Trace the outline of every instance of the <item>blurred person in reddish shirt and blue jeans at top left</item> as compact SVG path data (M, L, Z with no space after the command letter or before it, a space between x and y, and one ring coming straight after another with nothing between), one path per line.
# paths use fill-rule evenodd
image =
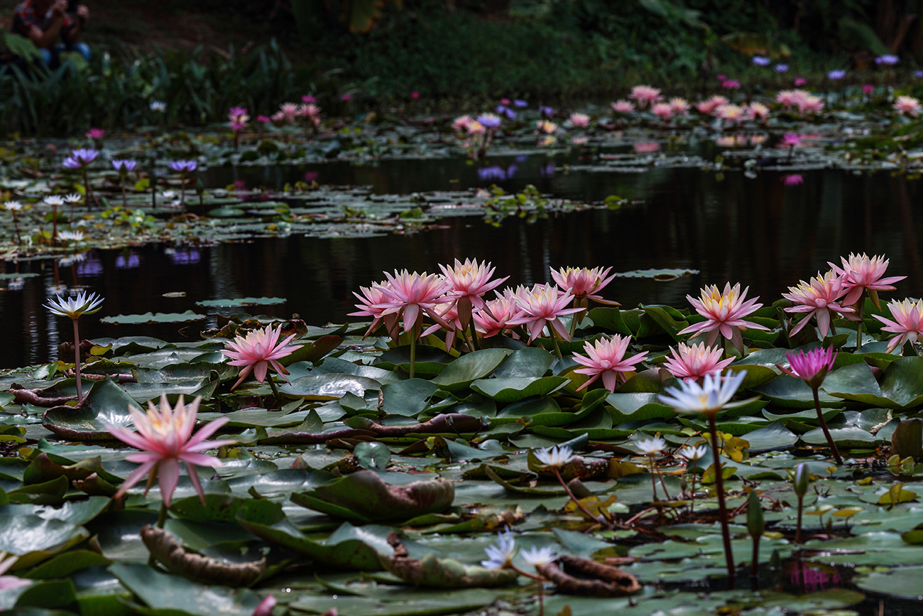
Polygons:
M45 64L54 68L61 52L77 52L90 60L90 46L79 42L89 17L90 9L77 0L24 0L16 7L13 31L34 42Z

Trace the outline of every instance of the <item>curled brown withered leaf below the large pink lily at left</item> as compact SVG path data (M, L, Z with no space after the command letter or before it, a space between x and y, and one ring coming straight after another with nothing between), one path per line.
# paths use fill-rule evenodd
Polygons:
M266 558L238 564L217 561L183 550L173 535L156 526L145 525L141 528L141 540L170 573L202 584L250 586L266 573Z

